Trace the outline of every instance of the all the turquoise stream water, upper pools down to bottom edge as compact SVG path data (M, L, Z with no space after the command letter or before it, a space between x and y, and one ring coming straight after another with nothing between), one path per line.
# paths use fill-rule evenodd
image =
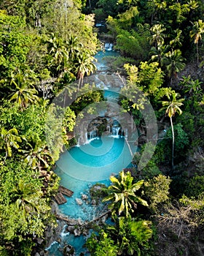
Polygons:
M107 47L111 45L107 45ZM103 56L117 56L118 53L111 51L100 52L97 56L97 68L104 74L106 72L106 62L103 61ZM96 76L96 78L98 78ZM97 79L96 79L97 86ZM109 102L117 102L119 88L113 89L109 85L109 80L103 80L104 97ZM55 173L60 176L60 184L74 192L71 197L66 197L67 203L58 206L59 211L73 219L92 220L101 215L103 205L94 206L90 201L89 189L100 182L108 186L110 184L109 177L117 175L120 170L131 165L132 152L137 150L137 147L127 145L127 132L123 132L117 120L113 121L112 127L108 125L108 134L98 137L97 133L90 132L87 143L79 146L79 144L69 151L64 152L58 162L56 162ZM130 149L131 147L131 149ZM131 152L132 151L132 152ZM82 204L76 202L80 200L82 195L87 195L86 201L81 200ZM80 252L85 252L83 244L85 244L84 236L74 236L65 232L64 227L60 234L60 244L54 242L47 248L49 255L61 256L63 253L60 248L64 244L74 246L76 255ZM88 254L85 254L88 255Z

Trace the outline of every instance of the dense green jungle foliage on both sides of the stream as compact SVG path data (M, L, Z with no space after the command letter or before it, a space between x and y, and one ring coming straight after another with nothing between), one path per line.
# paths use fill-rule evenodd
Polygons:
M201 0L1 0L0 255L35 255L56 225L55 161L75 143L68 135L77 114L103 95L88 85L57 113L53 99L71 83L76 97L103 40L119 50L111 67L127 78L119 104L144 127L145 98L133 100L139 89L166 132L144 168L111 177L101 200L114 225L96 227L87 248L100 256L204 254L203 12Z

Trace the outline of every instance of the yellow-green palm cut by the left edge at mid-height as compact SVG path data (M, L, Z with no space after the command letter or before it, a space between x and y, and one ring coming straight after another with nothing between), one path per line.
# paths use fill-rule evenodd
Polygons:
M4 127L1 128L0 148L6 151L4 162L6 161L7 157L12 157L12 148L18 149L20 147L18 145L19 142L21 142L21 138L18 136L17 129L12 128L7 130Z

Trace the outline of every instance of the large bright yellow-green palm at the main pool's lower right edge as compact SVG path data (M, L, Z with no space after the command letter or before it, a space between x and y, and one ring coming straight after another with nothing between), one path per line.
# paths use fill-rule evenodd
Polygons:
M124 170L119 173L119 179L111 176L110 180L112 185L108 188L109 195L103 199L103 202L111 201L109 208L113 211L112 214L115 212L114 209L117 209L119 215L125 211L125 217L127 217L130 214L129 211L133 212L133 207L136 208L136 203L148 206L145 200L136 195L136 191L144 184L143 180L133 184L130 172L124 173Z

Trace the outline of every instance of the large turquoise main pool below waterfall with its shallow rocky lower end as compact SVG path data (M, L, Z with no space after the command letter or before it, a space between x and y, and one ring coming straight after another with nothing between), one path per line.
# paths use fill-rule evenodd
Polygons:
M66 197L67 203L59 206L63 214L74 219L91 220L99 214L100 208L83 203L79 206L76 198L88 195L90 187L100 182L109 185L109 177L130 165L132 158L124 138L95 139L90 144L71 148L58 160L56 173L64 187L74 191Z

